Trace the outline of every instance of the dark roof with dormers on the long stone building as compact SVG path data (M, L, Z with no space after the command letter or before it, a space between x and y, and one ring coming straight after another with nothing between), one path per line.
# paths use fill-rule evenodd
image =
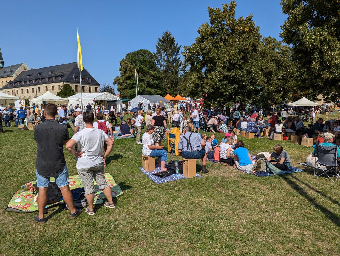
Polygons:
M51 74L49 72L52 72ZM1 73L1 70L0 70ZM40 74L38 76L38 74ZM90 75L89 72L86 71L84 68L82 71L82 77L85 78L85 81L83 81L84 84L93 84L93 85L100 85L93 76ZM29 77L27 77L29 75ZM61 76L61 79L59 80L59 76ZM78 77L78 81L74 80L73 76ZM54 81L53 78L54 77ZM46 81L46 78L48 78L48 81ZM90 78L92 81L89 82L88 78ZM35 82L33 83L33 79L35 79ZM40 82L39 82L40 79ZM67 64L61 64L51 67L45 67L45 68L37 68L37 69L31 69L27 71L21 72L16 79L13 81L9 81L7 85L1 87L2 89L7 88L17 88L17 87L24 87L27 85L43 85L43 84L50 84L50 83L60 83L60 82L72 82L72 83L79 83L80 82L79 77L79 69L77 67L77 62L73 63L67 63ZM18 85L18 82L20 84ZM22 84L22 82L24 82ZM14 83L14 85L13 85ZM11 85L12 84L12 85Z

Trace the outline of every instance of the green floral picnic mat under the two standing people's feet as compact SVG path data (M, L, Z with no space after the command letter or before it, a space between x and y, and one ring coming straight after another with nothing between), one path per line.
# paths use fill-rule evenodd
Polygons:
M111 176L111 174L105 172L104 174L106 181L111 187L112 196L118 197L119 195L123 194L123 191L119 187L119 185L115 182L114 178ZM51 178L51 182L54 182L54 178ZM32 193L33 185L36 183L36 181L28 182L21 186L21 188L14 193L12 196L10 202L8 203L8 206L6 208L6 211L12 211L12 212L33 212L38 211L38 203L34 202L34 194ZM73 175L68 177L68 186L69 188L75 189L75 188L83 188L82 180L80 179L79 175ZM105 199L105 195L103 191L101 191L98 188L98 185L95 181L95 201L94 204L102 204L103 199ZM58 202L55 202L54 204L46 205L46 208L49 208L56 204L63 204L64 201L60 200Z

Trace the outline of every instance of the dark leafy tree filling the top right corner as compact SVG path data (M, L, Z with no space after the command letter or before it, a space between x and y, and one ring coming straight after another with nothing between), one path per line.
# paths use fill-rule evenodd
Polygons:
M297 64L299 94L309 99L323 94L340 97L339 0L282 0L284 22L280 36L292 47Z

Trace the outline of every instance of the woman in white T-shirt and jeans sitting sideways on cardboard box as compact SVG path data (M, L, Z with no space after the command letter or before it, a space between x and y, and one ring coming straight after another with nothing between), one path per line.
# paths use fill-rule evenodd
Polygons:
M163 146L153 146L154 142L151 138L151 134L155 130L155 126L148 124L146 132L142 136L142 154L145 156L157 156L158 165L160 163L160 171L167 171L165 168L165 161L168 160L168 152L163 150Z

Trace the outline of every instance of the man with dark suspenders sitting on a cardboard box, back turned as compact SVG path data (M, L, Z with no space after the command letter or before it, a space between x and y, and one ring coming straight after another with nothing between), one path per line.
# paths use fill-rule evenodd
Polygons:
M178 143L178 152L183 158L202 159L202 172L209 172L205 165L207 163L207 155L205 154L205 142L199 133L192 133L190 126L183 129L184 135L181 136Z

